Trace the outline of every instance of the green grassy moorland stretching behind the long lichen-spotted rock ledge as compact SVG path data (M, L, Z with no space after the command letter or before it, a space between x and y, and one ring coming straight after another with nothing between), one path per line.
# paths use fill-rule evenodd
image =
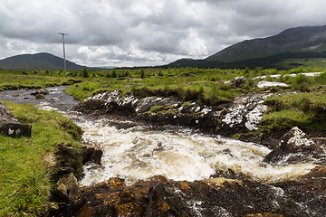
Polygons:
M251 80L257 76L267 76L265 80L282 81L290 85L287 90L309 91L314 87L325 84L325 75L322 78L309 78L298 76L292 78L284 76L291 73L322 71L320 68L292 69L290 71L277 71L275 69L256 68L253 70L220 70L220 69L133 69L94 71L87 81L72 85L66 92L75 99L86 99L97 93L120 90L122 95L133 94L139 97L151 95L176 95L180 99L193 100L203 104L219 104L235 98L239 94L263 92L256 88L259 80ZM269 75L281 74L280 78ZM232 83L225 81L235 77L244 76L247 80L241 87L233 87ZM321 76L320 76L321 77ZM273 92L286 91L273 88Z

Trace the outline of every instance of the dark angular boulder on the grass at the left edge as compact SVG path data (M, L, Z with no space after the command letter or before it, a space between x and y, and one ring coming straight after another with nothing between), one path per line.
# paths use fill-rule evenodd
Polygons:
M0 134L9 137L31 137L32 126L19 122L5 104L0 102Z

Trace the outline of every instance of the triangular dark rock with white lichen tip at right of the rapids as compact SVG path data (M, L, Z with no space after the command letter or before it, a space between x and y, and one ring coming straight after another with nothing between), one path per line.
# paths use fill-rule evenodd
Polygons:
M325 156L325 153L321 146L317 146L301 129L293 127L281 138L279 145L264 157L264 162L270 164L313 162L322 156Z

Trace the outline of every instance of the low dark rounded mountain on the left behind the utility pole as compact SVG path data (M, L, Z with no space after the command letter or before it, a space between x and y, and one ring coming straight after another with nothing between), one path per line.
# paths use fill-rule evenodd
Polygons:
M90 69L66 60L67 71ZM51 53L40 52L35 54L21 54L0 60L1 70L63 70L63 59Z

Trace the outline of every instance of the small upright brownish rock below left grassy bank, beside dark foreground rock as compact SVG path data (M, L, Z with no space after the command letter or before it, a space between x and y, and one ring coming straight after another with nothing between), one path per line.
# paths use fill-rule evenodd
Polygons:
M79 192L80 189L76 177L69 173L59 179L56 192L53 195L56 202L72 202Z

